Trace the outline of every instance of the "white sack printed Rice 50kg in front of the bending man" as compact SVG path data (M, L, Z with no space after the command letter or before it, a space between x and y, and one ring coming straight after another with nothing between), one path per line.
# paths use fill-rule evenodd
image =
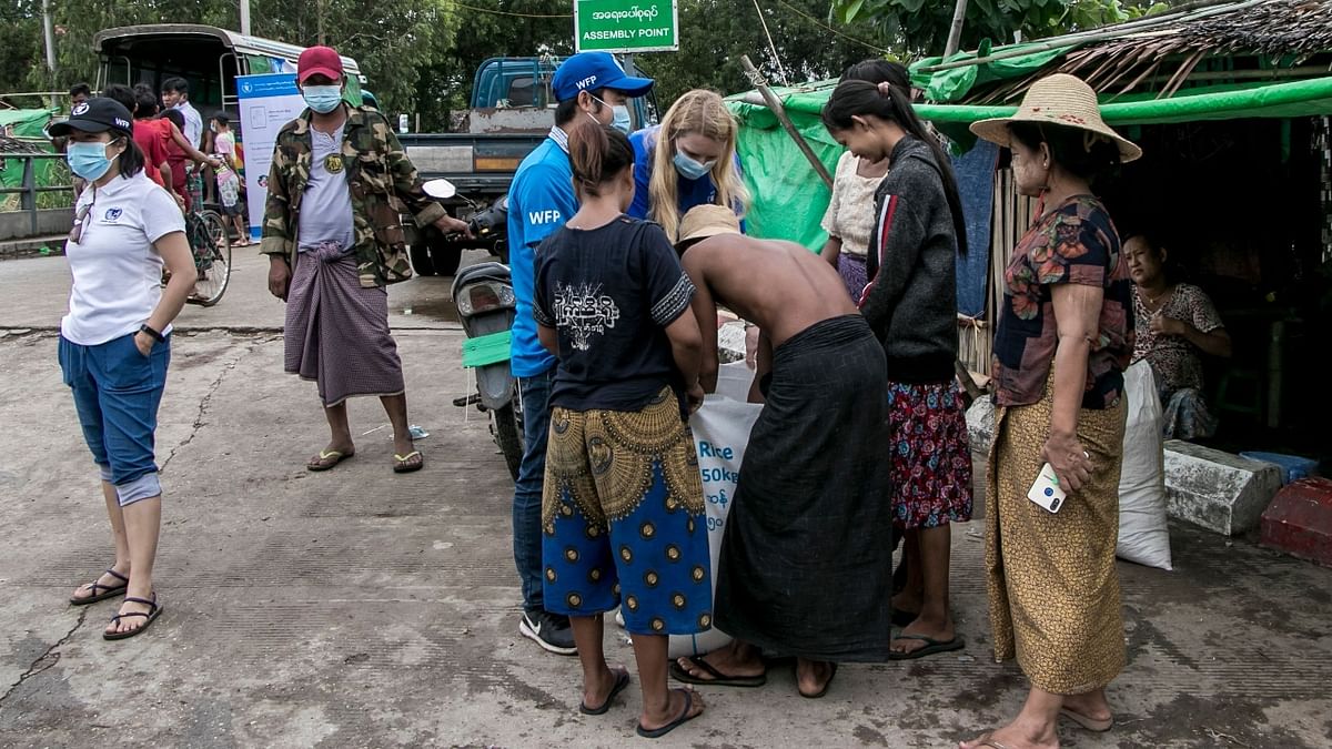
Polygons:
M741 363L741 367L745 367ZM723 367L726 369L726 367ZM749 369L745 369L749 372ZM749 392L749 382L745 384ZM707 548L713 557L713 590L717 590L717 564L722 552L722 533L726 529L726 516L730 514L731 498L735 497L735 482L745 458L745 445L749 444L750 429L761 404L737 401L721 394L707 396L703 406L689 417L694 432L694 445L698 448L698 469L703 476L703 500L707 505ZM673 634L670 657L697 656L710 653L730 642L730 636L707 629L698 634Z

